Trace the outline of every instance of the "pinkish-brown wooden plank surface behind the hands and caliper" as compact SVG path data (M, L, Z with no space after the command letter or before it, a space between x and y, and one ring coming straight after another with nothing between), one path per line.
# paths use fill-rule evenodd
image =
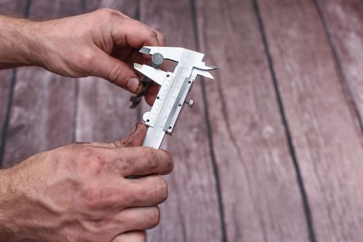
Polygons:
M205 53L164 149L169 199L149 241L363 241L363 1L0 0L37 19L114 8ZM0 72L3 167L123 138L149 109L94 77Z

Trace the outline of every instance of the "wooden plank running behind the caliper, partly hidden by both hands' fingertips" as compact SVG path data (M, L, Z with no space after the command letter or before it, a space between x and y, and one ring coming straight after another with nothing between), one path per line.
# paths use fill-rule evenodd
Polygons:
M189 1L141 1L140 20L162 32L168 46L196 49ZM148 232L149 241L221 241L215 178L205 125L201 78L198 77L176 131L163 147L174 158L166 176L169 198L160 206L161 222ZM143 111L149 110L143 108Z

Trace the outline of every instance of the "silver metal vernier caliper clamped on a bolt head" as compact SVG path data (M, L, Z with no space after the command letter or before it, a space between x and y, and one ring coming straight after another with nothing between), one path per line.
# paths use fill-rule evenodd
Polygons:
M142 146L159 149L165 133L169 135L173 133L183 104L193 106L193 100L185 102L185 99L192 89L196 76L203 75L214 79L208 71L216 69L216 66L202 62L203 53L185 48L145 46L140 53L152 55L151 66L135 63L133 67L160 85L151 111L146 112L142 117L149 127ZM164 59L178 62L174 72L165 72L157 68Z

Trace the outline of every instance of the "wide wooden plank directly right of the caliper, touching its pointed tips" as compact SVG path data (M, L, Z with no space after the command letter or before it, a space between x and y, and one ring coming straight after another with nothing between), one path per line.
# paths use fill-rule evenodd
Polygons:
M252 1L196 1L228 241L308 241L297 175Z

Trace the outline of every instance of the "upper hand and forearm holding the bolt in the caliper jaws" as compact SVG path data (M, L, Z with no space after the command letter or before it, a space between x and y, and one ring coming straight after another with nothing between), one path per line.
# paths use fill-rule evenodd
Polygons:
M0 29L6 35L0 40L0 68L37 65L68 77L93 75L132 93L142 91L133 63L150 59L138 50L165 46L160 32L111 9L49 21L0 17ZM157 92L157 86L149 89L148 104Z

